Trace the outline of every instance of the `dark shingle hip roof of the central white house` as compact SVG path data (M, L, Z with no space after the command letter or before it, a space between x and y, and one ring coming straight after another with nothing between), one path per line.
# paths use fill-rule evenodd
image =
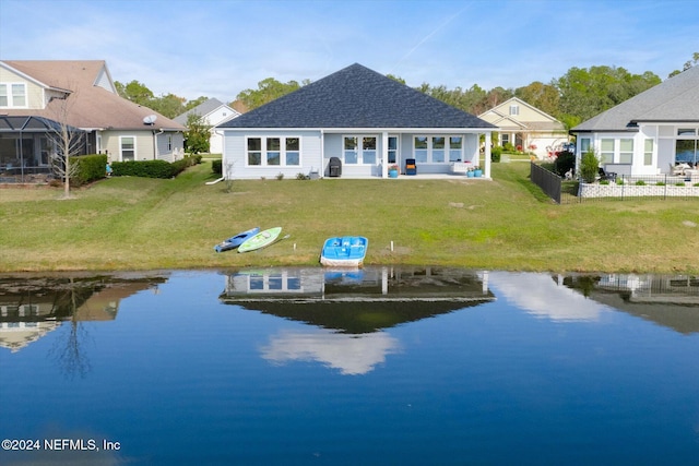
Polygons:
M497 127L355 63L218 128Z

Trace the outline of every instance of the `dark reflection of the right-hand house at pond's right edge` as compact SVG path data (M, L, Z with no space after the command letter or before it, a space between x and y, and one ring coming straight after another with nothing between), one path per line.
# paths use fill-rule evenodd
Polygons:
M565 279L589 298L683 334L699 332L699 277L605 274Z

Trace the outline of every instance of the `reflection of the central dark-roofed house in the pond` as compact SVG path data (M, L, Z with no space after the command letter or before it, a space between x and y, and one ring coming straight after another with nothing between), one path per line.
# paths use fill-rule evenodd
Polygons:
M320 267L241 271L221 300L348 333L477 306L495 299L487 273L443 267Z

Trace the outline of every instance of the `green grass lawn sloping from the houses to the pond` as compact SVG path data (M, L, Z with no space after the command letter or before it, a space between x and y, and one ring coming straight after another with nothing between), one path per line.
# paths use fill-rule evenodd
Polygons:
M0 271L152 270L317 264L323 240L369 239L367 263L483 270L699 270L697 201L555 205L529 164L494 164L494 181L266 179L206 186L211 163L175 180L111 178L74 190L0 189ZM291 238L216 253L253 226ZM390 250L393 241L393 251Z

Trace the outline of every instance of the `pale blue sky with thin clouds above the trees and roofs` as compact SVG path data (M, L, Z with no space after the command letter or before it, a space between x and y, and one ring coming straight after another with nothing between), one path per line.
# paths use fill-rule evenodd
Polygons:
M355 62L411 86L490 89L571 67L665 79L696 51L696 0L0 0L0 59L100 59L156 95L226 103Z

